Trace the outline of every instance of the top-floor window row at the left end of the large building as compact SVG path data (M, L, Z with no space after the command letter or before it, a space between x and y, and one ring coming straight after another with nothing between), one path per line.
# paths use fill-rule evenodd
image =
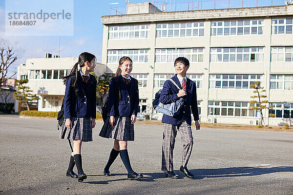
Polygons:
M148 35L149 24L109 27L109 39L146 39Z

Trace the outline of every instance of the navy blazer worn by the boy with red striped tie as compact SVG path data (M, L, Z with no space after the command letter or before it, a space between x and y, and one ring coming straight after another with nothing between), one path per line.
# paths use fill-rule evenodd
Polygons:
M172 77L176 84L182 89L180 81L177 78L177 74ZM160 97L160 102L163 104L169 104L177 99L177 94L179 92L179 89L169 80L166 80L164 83L164 87L162 90L162 94ZM172 125L178 125L180 124L183 116L188 123L188 125L191 125L191 112L190 107L192 110L192 114L194 117L194 120L199 120L198 116L198 108L197 108L197 98L196 98L196 84L189 78L187 78L186 81L186 93L187 95L184 96L184 105L180 109L179 115L176 115L174 117L169 117L167 115L164 115L162 118L163 123L168 123Z

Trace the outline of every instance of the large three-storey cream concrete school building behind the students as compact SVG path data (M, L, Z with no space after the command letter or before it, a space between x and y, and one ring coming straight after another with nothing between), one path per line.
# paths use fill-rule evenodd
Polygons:
M161 12L146 2L101 21L105 73L115 73L122 56L133 59L140 114L161 119L152 100L183 56L197 85L201 122L257 124L260 113L249 110L250 84L261 81L272 106L264 124L292 124L293 5Z

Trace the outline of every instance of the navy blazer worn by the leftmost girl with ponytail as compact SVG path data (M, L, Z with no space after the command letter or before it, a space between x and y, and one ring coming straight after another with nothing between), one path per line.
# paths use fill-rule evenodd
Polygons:
M89 75L89 82L84 87L80 72L77 73L78 100L76 100L75 89L72 87L73 79L68 78L64 96L64 117L91 117L96 118L97 105L97 79ZM78 101L78 104L76 103ZM79 113L77 113L77 106Z

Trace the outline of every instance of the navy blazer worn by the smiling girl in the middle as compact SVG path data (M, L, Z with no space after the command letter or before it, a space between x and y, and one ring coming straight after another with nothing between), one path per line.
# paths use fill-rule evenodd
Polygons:
M130 76L128 76L130 77ZM138 90L138 81L131 77L130 90L128 92L127 86L123 81L122 75L118 75L117 79L120 81L120 90L122 93L122 99L119 99L119 94L115 92L118 87L115 85L119 84L114 81L113 78L109 84L109 96L108 96L108 112L109 116L120 116L126 117L129 115L137 116L139 95L135 93L135 89ZM138 91L137 91L138 92Z

